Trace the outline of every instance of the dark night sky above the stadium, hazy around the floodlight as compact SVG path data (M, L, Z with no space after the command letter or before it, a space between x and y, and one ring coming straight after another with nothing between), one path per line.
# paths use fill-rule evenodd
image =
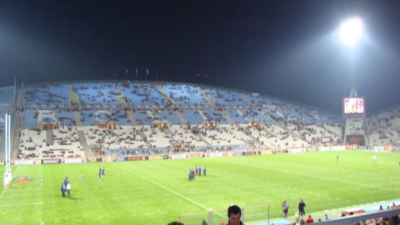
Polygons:
M338 28L354 46L366 110L400 103L400 1L32 0L0 2L0 80L128 79L214 84L336 112L349 93Z

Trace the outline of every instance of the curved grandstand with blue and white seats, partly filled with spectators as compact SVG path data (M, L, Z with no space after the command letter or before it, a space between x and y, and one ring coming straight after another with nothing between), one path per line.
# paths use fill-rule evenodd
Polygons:
M15 84L0 89L0 100L1 114L11 115L14 160L95 161L109 155L288 152L342 145L393 149L400 143L398 108L368 118L341 117L286 99L193 83Z

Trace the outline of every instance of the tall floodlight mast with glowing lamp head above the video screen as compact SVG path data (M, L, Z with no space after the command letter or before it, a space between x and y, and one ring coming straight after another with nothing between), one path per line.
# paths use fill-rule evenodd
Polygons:
M362 20L353 18L343 23L340 29L340 39L350 48L350 97L357 97L357 82L355 76L354 45L362 36Z

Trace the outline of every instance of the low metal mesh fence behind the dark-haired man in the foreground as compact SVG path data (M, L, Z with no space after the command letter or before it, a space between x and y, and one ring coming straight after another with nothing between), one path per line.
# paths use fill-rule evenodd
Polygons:
M202 220L208 225L228 222L227 209L214 209L208 212L180 214L179 222L185 225L198 225ZM255 205L241 208L241 221L246 224L266 224L269 221L269 205Z

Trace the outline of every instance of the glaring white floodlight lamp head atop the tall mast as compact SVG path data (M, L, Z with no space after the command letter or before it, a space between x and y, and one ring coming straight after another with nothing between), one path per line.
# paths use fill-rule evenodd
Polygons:
M362 21L360 18L349 20L343 24L340 30L341 40L352 46L362 35Z

